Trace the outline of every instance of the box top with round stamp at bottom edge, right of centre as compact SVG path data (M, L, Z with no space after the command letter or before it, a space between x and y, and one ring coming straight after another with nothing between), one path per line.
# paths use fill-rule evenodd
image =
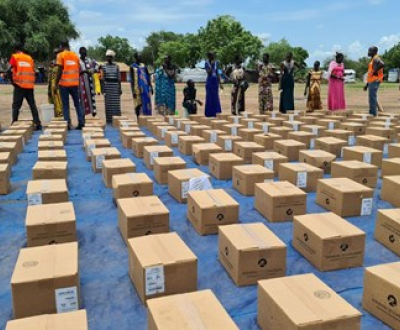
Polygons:
M298 326L361 316L314 274L265 280L259 284Z

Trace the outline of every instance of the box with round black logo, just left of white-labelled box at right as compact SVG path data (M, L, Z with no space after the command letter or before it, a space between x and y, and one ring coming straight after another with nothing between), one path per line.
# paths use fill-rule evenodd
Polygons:
M306 214L307 193L287 181L256 184L254 207L270 222L293 221Z

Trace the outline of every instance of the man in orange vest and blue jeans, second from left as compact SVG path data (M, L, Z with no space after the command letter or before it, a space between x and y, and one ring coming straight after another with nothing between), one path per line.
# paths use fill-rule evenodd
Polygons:
M68 41L61 42L60 48L61 52L57 55L57 65L60 68L54 88L60 88L64 120L68 122L69 130L72 128L69 111L69 96L71 95L78 118L76 129L80 130L85 127L85 113L79 102L79 57L70 51Z

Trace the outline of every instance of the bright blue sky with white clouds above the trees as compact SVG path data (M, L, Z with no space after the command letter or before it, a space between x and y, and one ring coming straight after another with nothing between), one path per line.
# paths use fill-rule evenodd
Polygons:
M196 32L209 19L232 15L265 43L286 38L310 53L309 63L336 50L352 58L370 45L400 42L399 0L63 0L81 39L95 45L106 34L140 49L152 31Z

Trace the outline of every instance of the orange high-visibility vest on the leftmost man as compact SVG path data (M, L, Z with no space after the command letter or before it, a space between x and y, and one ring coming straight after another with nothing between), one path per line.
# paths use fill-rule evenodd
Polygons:
M13 82L21 88L35 87L35 64L32 57L24 53L13 55L16 66L13 68Z

